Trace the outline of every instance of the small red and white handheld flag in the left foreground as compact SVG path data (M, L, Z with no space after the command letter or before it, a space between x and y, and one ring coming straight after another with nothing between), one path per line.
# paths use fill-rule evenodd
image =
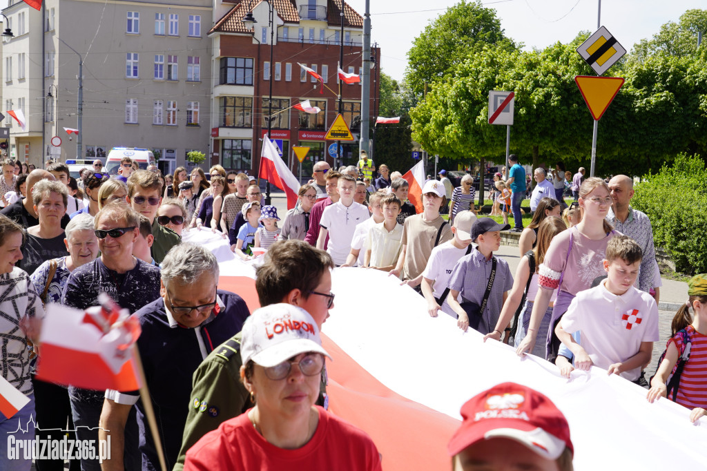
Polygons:
M47 304L40 335L37 378L93 390L140 388L132 345L140 335L136 318L106 303L105 293L86 312ZM78 367L80 365L80 367Z

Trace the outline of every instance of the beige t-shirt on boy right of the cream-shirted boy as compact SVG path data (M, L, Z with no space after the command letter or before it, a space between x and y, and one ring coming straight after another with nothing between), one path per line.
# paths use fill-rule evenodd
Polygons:
M402 279L418 277L427 265L427 260L435 247L435 240L440 226L445 223L439 244L452 240L452 226L442 216L433 221L425 221L423 214L416 214L405 219L402 229L402 245L407 245L405 263L402 267Z

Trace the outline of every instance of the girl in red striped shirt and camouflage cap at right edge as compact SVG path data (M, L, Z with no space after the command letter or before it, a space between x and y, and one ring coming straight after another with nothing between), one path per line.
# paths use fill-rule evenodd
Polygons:
M662 396L689 407L694 422L707 414L707 274L692 277L687 294L688 301L672 320L665 358L650 380L648 401Z

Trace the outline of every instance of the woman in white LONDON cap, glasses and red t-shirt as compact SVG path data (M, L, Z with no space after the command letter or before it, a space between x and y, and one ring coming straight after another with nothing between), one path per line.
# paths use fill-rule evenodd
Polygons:
M381 469L370 436L314 405L329 354L305 310L256 310L243 325L240 354L240 378L255 406L190 448L185 471Z

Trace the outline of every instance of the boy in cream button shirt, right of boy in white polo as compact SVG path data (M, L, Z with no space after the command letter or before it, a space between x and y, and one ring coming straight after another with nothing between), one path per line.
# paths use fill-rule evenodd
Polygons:
M395 194L387 194L380 201L383 211L383 222L375 224L368 231L366 239L366 257L363 267L390 272L395 268L402 249L402 226L397 223L401 203Z

